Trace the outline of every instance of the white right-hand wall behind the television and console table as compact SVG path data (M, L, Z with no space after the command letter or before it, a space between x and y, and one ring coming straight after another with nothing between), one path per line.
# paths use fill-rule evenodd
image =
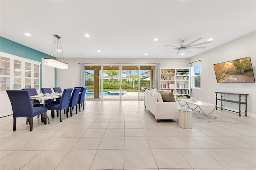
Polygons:
M214 41L212 42L214 43ZM190 58L190 62L202 60L201 65L201 89L192 90L192 97L200 101L215 103L215 91L230 93L248 93L248 116L256 118L256 83L217 83L214 67L216 63L251 57L252 69L256 76L256 32L252 32L228 43L210 49L204 53ZM209 96L209 99L208 99ZM238 96L225 96L225 99L238 101ZM244 99L244 98L242 98ZM224 108L238 111L238 104L224 102ZM244 112L242 105L241 112ZM244 116L244 114L242 114Z

